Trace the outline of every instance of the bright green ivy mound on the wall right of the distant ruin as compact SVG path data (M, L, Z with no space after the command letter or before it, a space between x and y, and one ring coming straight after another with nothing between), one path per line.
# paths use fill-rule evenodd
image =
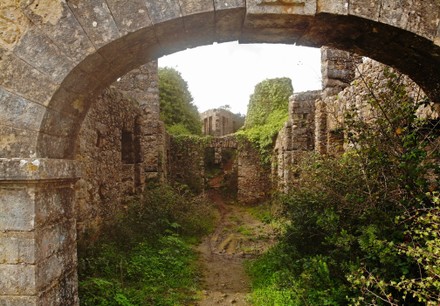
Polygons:
M289 78L267 79L255 86L249 100L244 129L237 135L251 141L266 163L270 161L275 137L288 119L292 93Z

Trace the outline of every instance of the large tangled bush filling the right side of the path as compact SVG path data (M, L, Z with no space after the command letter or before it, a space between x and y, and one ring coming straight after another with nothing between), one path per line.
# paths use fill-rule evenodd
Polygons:
M346 113L351 149L305 156L274 198L286 233L249 268L254 305L439 304L439 123L385 77L362 97L367 113Z

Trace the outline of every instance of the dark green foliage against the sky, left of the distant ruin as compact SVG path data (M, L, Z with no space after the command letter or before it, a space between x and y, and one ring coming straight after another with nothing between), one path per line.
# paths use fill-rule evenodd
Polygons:
M173 68L159 69L160 117L173 135L201 135L197 107L186 81Z

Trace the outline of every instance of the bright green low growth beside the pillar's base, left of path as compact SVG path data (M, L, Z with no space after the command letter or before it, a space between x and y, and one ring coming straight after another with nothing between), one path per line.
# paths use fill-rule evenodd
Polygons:
M196 259L174 235L129 252L103 244L88 259L89 275L80 275L81 305L187 305L199 290Z

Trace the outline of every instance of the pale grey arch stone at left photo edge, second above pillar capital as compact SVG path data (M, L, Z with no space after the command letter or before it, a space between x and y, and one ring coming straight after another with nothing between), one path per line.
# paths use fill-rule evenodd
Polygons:
M38 130L46 108L0 87L0 122L20 129Z

